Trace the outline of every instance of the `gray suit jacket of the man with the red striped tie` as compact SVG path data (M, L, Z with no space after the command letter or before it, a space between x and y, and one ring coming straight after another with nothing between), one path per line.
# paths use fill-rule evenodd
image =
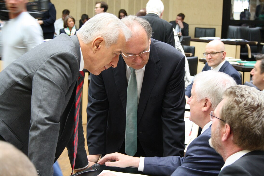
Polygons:
M62 34L0 72L0 135L28 155L40 175L52 175L67 145L72 160L80 58L77 36ZM75 168L88 164L81 116L78 132Z

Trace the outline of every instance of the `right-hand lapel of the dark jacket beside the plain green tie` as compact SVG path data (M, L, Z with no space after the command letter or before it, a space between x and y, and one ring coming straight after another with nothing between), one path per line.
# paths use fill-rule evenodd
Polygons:
M138 123L143 115L145 106L150 98L150 93L156 83L156 80L159 76L159 73L161 71L161 65L156 64L157 61L159 61L159 56L157 54L156 48L153 45L154 41L151 40L150 45L150 54L149 54L149 61L146 64L145 67L145 73L143 77L143 83L138 103Z

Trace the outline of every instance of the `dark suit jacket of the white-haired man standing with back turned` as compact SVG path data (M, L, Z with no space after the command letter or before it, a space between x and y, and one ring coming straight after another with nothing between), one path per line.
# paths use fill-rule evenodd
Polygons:
M149 13L141 18L144 18L150 23L153 31L153 39L165 42L175 47L173 29L169 22L159 18L159 16L154 13Z

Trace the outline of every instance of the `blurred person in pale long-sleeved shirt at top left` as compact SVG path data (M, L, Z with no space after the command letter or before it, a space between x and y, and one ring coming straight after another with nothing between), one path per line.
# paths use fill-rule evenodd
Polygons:
M27 12L27 2L6 0L9 20L4 23L0 34L3 68L43 42L41 27Z

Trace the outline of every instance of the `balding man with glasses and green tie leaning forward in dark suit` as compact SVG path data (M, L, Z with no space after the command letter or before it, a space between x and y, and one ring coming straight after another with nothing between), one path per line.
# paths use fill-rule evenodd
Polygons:
M135 156L182 156L184 143L185 58L174 47L151 39L150 24L143 18L121 19L134 34L126 42L118 66L91 75L87 107L89 161L125 148L127 89L135 69L137 132ZM137 109L136 109L137 108Z

